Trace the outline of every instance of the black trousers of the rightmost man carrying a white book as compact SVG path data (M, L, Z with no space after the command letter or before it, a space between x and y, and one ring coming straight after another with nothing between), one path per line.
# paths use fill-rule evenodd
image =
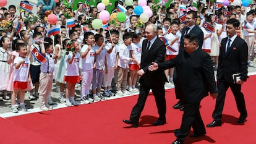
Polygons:
M229 87L231 88L231 91L236 100L236 107L240 112L239 118L245 119L247 117L247 110L245 107L244 94L241 92L242 85L239 85L237 83L227 83L224 80L218 80L217 87L219 93L216 98L215 109L212 114L213 119L215 119L215 121L221 122L224 101L226 98L226 91Z

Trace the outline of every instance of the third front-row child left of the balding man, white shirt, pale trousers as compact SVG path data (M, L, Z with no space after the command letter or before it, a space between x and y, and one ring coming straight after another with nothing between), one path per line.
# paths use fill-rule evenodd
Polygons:
M111 36L111 38L110 38ZM111 30L111 35L106 33L106 38L111 43L106 44L106 64L105 64L105 73L103 77L103 88L104 96L110 97L114 96L114 93L111 91L111 82L114 78L114 70L116 67L116 54L117 54L117 43L119 38L119 32L117 30Z

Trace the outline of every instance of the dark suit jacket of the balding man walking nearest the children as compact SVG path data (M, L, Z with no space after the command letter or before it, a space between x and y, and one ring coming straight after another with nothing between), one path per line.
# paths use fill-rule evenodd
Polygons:
M148 70L148 66L151 62L163 62L166 53L166 48L163 41L156 38L155 42L151 45L151 48L146 51L148 40L143 40L142 43L142 57L140 62L140 69L143 69L145 74L140 77L140 83L145 85L164 85L166 77L164 75L164 70L155 70L151 72Z

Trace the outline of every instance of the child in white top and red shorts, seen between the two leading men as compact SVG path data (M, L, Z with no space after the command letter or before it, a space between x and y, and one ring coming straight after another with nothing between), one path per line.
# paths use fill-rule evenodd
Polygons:
M173 21L171 23L171 33L166 35L166 38L170 41L170 47L166 47L166 58L165 60L168 61L169 59L174 59L179 53L179 40L181 40L181 35L179 35L179 23ZM168 78L169 73L169 82L173 84L173 72L174 68L164 70L166 78Z

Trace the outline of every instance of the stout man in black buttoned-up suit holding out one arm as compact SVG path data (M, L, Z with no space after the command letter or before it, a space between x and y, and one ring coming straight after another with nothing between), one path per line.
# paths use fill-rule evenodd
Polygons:
M205 125L200 115L200 101L208 95L215 99L218 96L215 84L211 57L198 48L198 36L187 34L184 37L184 52L174 59L163 63L152 62L149 70L169 69L176 66L178 92L184 103L181 127L174 130L177 139L173 144L183 143L189 135L191 127L194 133L191 137L205 135Z

